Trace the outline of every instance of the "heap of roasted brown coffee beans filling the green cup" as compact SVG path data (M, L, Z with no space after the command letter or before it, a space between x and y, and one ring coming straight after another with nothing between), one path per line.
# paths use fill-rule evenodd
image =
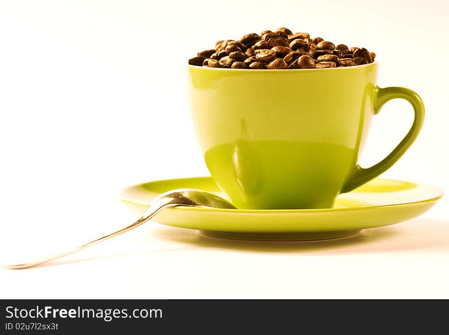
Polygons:
M308 33L287 28L247 34L238 41L222 40L214 49L199 51L190 65L232 69L312 69L372 63L376 57L366 48L335 45Z

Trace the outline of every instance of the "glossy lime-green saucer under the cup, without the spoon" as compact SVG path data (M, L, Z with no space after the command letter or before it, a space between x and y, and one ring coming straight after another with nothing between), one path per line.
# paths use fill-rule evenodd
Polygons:
M149 205L160 193L193 188L226 197L211 177L169 179L122 190L122 200ZM394 224L428 211L443 192L432 186L377 178L337 197L334 208L311 210L227 210L169 208L155 221L201 230L216 238L257 241L313 241L350 237L361 229Z

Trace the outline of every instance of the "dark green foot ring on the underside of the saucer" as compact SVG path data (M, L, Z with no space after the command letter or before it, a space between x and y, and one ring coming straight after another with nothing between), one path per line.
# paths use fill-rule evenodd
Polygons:
M240 231L211 231L201 230L201 234L219 239L243 240L243 241L320 241L341 239L356 236L361 229L341 231L310 231L307 233L244 233Z

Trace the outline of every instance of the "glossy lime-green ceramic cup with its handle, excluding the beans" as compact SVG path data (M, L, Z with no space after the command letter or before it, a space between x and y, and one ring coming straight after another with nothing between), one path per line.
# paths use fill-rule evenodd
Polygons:
M331 208L393 165L415 140L424 106L405 88L377 87L378 64L299 70L189 66L193 122L209 171L241 209ZM371 117L390 99L415 111L383 161L358 165Z

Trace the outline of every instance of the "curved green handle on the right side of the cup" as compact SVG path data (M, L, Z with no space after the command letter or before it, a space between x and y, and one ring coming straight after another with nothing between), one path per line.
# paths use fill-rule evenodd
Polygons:
M352 191L388 170L394 163L396 163L398 159L401 158L401 156L407 151L407 149L410 147L410 145L412 145L412 143L418 136L419 131L422 127L422 123L424 122L425 109L419 95L412 90L403 87L378 87L376 99L373 106L374 113L378 114L382 106L387 101L396 98L405 99L410 102L415 111L415 119L413 120L413 125L410 128L410 131L407 133L401 143L399 143L387 157L385 157L376 165L364 169L357 164L353 176L346 181L340 193Z

